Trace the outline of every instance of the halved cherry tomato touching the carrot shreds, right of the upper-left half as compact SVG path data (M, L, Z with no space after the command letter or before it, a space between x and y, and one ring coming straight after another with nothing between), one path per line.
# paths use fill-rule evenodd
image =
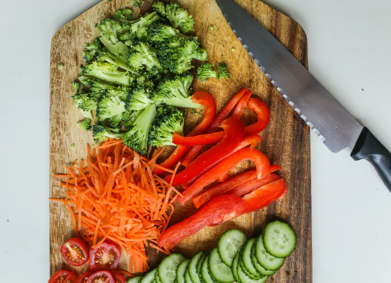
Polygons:
M121 258L121 251L110 241L103 242L99 247L91 249L90 269L114 270Z

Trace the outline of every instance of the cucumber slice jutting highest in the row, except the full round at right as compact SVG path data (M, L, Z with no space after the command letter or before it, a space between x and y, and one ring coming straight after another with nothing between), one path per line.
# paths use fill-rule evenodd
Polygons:
M232 266L234 256L246 243L247 236L238 229L230 229L221 236L218 244L219 255L223 263Z

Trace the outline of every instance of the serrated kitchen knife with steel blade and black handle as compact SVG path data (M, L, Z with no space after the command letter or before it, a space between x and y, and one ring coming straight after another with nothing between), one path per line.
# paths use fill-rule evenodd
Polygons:
M329 150L352 149L366 159L391 192L391 153L256 19L233 0L216 0L232 32L254 62Z

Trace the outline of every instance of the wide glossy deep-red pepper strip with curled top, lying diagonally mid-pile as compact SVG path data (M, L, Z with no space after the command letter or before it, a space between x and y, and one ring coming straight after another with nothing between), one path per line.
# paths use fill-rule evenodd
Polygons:
M242 142L244 125L239 119L230 117L220 126L225 132L221 142L202 153L185 170L176 174L172 180L172 186L178 186L190 181L198 174L201 174L205 168L210 168L216 162L226 158ZM171 176L166 176L166 181L170 182Z

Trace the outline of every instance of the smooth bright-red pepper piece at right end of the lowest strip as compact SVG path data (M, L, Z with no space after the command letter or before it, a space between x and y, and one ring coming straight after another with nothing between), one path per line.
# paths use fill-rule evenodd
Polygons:
M288 189L286 188L284 179L266 184L242 197L245 207L242 214L263 209L287 192Z

